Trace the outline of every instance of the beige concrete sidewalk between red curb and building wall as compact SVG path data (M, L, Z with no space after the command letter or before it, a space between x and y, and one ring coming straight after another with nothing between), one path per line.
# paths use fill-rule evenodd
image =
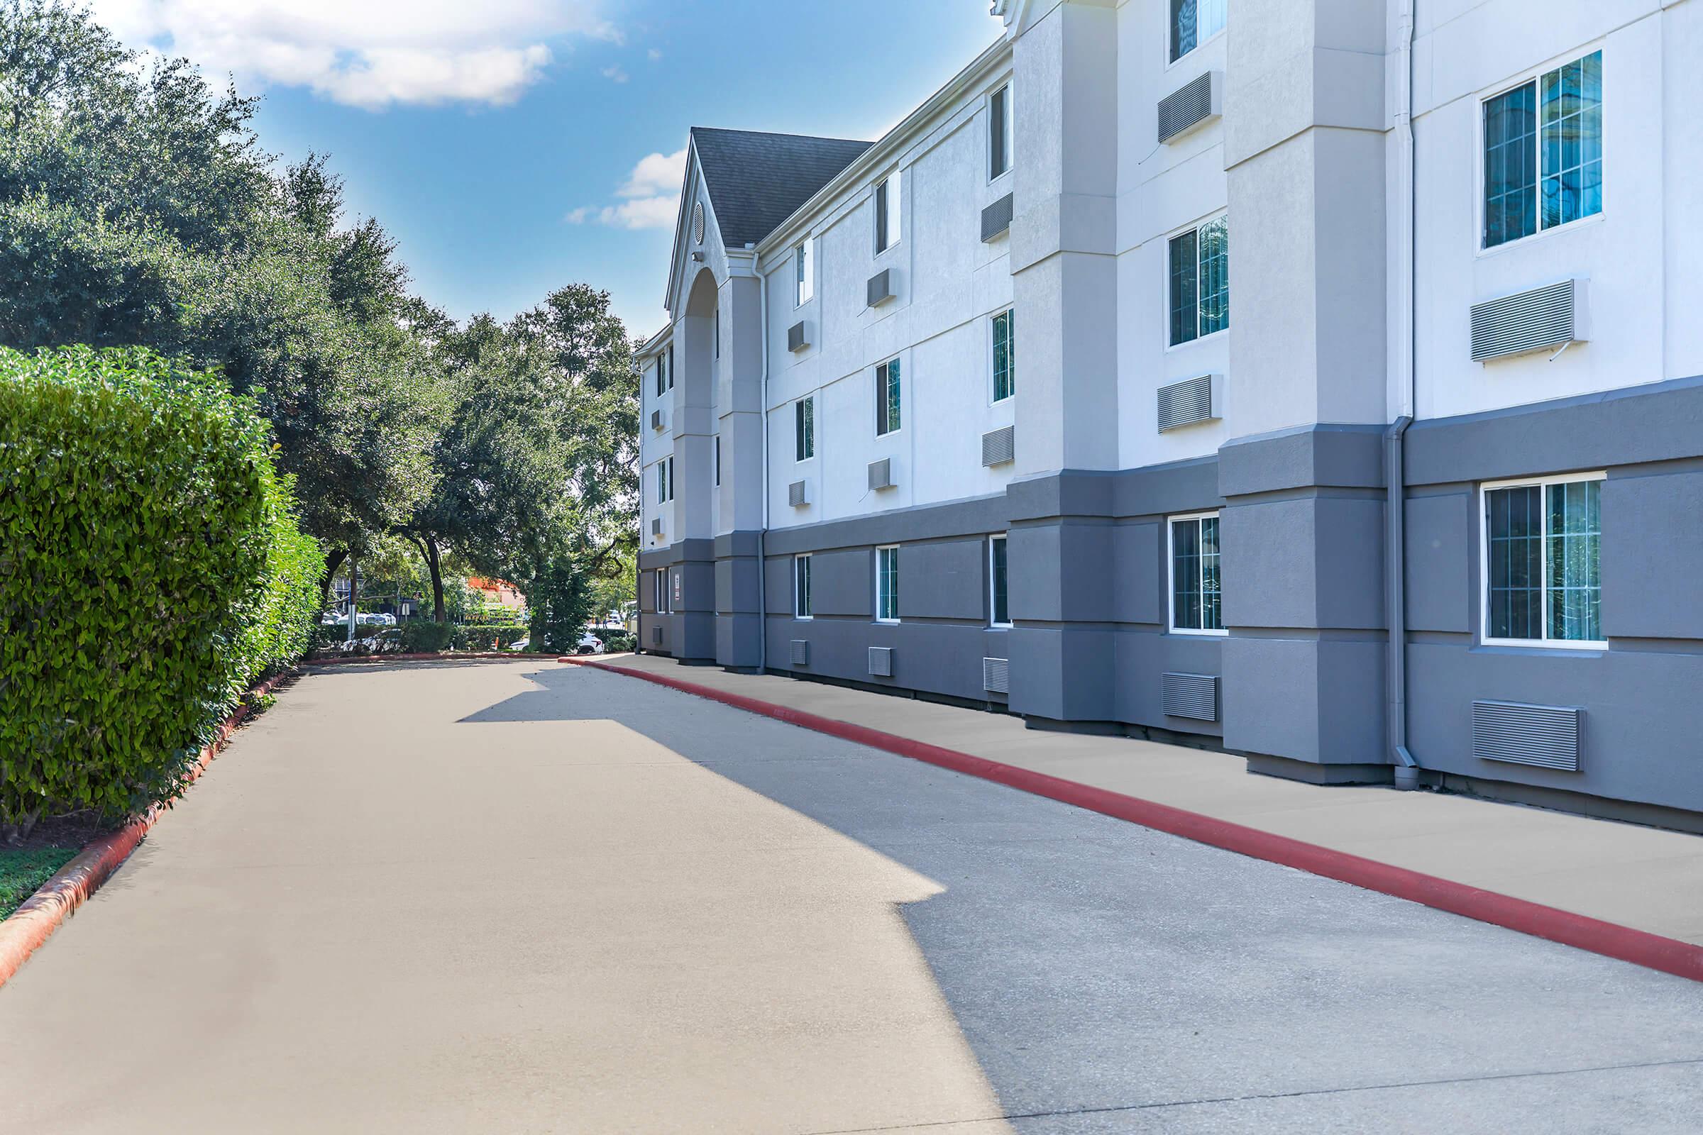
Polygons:
M1241 757L1126 737L1037 732L1015 716L790 677L683 667L654 655L598 662L743 694L1139 796L1703 944L1703 837L1521 805L1390 788L1318 788L1250 776Z

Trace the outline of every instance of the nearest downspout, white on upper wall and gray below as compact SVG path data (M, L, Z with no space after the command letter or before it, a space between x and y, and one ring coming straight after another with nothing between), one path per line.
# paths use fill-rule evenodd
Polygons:
M1386 522L1385 533L1385 572L1390 579L1388 619L1390 619L1390 662L1388 662L1388 704L1386 720L1390 728L1390 762L1395 766L1396 788L1419 788L1419 761L1407 749L1407 565L1405 565L1405 510L1407 510L1407 476L1403 463L1403 437L1407 427L1413 424L1413 328L1417 318L1415 254L1413 230L1415 208L1419 199L1415 182L1413 153L1413 3L1402 0L1396 22L1396 83L1395 131L1396 131L1396 179L1400 184L1400 204L1396 208L1395 240L1395 279L1398 288L1396 308L1396 415L1395 424L1385 434L1385 488L1386 488Z

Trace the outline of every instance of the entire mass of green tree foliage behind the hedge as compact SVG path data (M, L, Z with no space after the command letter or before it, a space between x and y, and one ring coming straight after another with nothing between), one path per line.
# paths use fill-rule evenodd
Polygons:
M78 7L0 0L0 345L221 373L271 424L327 580L385 534L434 577L448 548L523 590L618 570L639 388L608 293L456 323L376 220L346 218L327 157L261 148L255 107Z

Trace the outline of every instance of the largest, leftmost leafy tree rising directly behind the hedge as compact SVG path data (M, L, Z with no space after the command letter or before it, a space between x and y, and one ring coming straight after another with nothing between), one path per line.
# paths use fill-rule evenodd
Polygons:
M339 228L322 157L274 175L254 111L184 60L143 68L82 9L0 0L0 345L221 369L334 567L431 492L439 398L393 242Z

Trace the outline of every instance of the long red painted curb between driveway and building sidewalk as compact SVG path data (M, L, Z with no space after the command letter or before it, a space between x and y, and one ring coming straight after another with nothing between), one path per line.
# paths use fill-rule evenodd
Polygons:
M1262 832L1255 827L1231 824L1230 820L1201 815L1199 812L1187 812L1151 800L1141 800L1139 796L1126 796L1105 788L1093 788L1092 784L1080 784L1046 773L1020 769L1012 764L957 752L955 749L942 749L940 745L930 745L909 737L777 706L768 701L698 686L678 677L627 670L618 665L574 655L564 655L557 662L589 665L611 674L656 682L657 686L720 701L749 713L761 713L788 725L800 725L901 757L926 761L954 773L979 776L986 781L1117 817L1119 820L1129 820L1131 824L1141 824L1143 827L1172 836L1182 836L1184 839L1211 844L1213 847L1223 847L1224 851L1235 851L1253 859L1281 863L1299 871L1477 919L1478 922L1490 922L1492 926L1519 931L1521 934L1546 938L1565 946L1589 950L1591 953L1618 958L1620 961L1631 961L1633 965L1703 982L1703 946L1693 946L1677 938L1664 938L1631 926L1604 922L1603 919L1592 919L1557 907L1545 907L1543 904L1514 898L1494 890L1482 890L1466 883L1456 883L1454 880L1437 878L1436 875L1424 875L1345 851L1289 839L1287 836Z

